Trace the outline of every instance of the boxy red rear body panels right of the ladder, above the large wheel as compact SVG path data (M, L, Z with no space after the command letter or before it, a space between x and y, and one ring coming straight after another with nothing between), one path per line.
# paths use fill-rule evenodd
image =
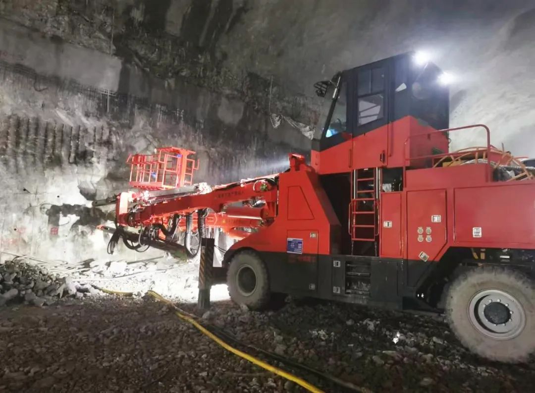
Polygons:
M438 261L450 247L535 249L535 181L488 182L487 173L487 164L408 170L403 192L381 193L380 256L397 254L398 224L404 259Z

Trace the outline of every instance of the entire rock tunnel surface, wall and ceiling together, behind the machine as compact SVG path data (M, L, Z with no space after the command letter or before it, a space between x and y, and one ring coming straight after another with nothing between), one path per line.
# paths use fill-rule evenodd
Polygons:
M94 222L106 211L89 201L125 188L134 151L196 150L197 179L210 183L282 169L310 145L270 113L314 125L315 81L412 49L457 77L452 125L486 123L494 145L535 156L534 10L530 0L0 0L0 250L103 256ZM452 135L453 147L482 136Z

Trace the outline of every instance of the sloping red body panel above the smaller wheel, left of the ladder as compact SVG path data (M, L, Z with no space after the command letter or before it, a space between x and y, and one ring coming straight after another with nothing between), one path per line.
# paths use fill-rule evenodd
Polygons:
M340 223L317 173L311 168L281 173L278 188L281 202L274 222L234 244L231 250L251 247L285 253L288 239L299 239L301 253L338 253L338 242L331 241L331 235L339 233Z

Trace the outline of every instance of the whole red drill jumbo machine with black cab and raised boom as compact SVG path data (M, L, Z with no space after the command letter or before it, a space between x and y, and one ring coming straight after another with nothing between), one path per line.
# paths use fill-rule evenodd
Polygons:
M535 351L535 168L492 146L485 125L449 128L446 79L409 53L318 82L326 120L311 162L291 154L276 175L210 187L193 183L189 150L135 155L140 191L113 200L114 240L192 256L221 228L238 239L223 269L239 304L282 293L445 311L473 352L524 360ZM460 133L482 146L450 151Z

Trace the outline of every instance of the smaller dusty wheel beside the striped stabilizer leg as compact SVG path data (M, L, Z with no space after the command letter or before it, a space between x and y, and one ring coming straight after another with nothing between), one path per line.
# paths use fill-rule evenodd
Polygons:
M270 302L268 269L252 251L242 251L232 257L227 284L231 299L239 305L257 310L265 308Z

